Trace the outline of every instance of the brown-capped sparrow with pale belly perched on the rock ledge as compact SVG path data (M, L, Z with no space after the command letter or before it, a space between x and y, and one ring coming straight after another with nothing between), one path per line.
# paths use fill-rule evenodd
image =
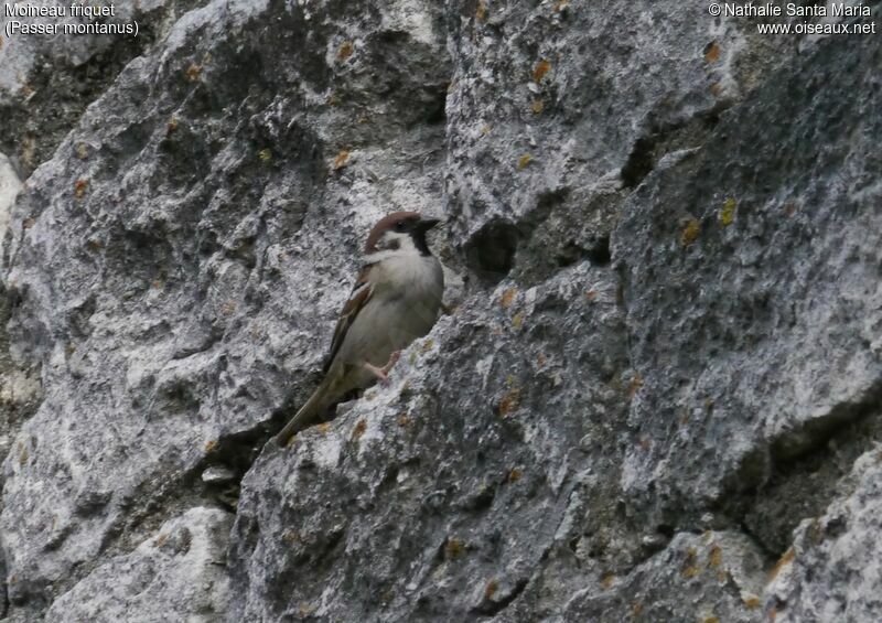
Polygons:
M279 445L353 390L386 383L400 351L432 329L442 308L444 273L426 234L438 223L417 212L396 212L370 230L334 330L324 379L276 436Z

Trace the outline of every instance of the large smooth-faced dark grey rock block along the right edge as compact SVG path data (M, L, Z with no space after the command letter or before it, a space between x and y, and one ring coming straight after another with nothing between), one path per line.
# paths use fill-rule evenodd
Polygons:
M644 382L631 437L646 447L623 487L655 523L746 514L783 551L848 471L789 487L792 466L836 436L879 438L880 60L872 37L819 43L625 203L613 257Z

